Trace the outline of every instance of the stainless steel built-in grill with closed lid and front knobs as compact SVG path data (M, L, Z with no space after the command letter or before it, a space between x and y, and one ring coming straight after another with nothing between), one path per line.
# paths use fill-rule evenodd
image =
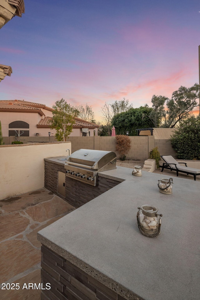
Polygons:
M98 172L116 169L116 161L112 151L79 149L66 160L66 176L97 186Z

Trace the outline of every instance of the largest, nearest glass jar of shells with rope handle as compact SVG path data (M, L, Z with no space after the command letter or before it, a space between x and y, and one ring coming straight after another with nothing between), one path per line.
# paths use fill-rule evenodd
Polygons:
M150 204L142 205L138 209L137 222L140 232L146 237L157 237L160 234L160 217L163 215L158 214L158 208ZM159 219L158 216L160 216Z

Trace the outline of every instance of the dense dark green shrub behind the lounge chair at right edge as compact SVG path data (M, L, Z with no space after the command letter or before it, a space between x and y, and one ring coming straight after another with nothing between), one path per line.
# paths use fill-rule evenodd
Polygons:
M180 121L170 140L177 152L176 158L200 160L200 117L192 115Z

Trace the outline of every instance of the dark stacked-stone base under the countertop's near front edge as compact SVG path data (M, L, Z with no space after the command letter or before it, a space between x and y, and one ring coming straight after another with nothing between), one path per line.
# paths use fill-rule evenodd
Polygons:
M115 287L107 287L43 245L41 251L42 283L51 284L51 289L41 291L41 300L143 300L132 292L126 298L121 296ZM126 293L123 289L120 292Z

